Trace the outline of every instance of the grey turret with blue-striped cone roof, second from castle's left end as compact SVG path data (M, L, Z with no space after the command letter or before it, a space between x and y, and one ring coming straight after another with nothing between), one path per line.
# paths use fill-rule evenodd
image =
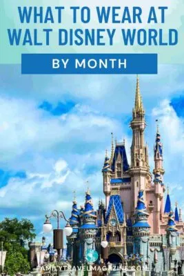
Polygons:
M88 190L85 193L85 208L81 214L81 227L80 227L80 256L79 259L83 260L83 263L86 262L86 254L88 250L95 250L95 237L97 233L96 226L96 215L94 213L92 197L90 196L90 191Z

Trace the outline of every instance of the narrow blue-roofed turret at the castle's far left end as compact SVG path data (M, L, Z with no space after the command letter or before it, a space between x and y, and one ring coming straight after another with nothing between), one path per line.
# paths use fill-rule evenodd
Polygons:
M67 252L68 252L68 258L72 259L73 264L76 264L77 259L76 259L76 238L79 233L79 210L77 209L76 206L76 199L74 197L73 205L72 205L72 214L69 219L70 225L72 226L72 235L67 237Z

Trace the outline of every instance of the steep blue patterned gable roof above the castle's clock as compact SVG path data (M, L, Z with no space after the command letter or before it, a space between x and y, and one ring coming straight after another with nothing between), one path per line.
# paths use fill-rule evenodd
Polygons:
M113 206L114 206L114 210L115 210L117 219L118 219L119 223L122 224L124 221L124 212L123 212L123 206L121 204L120 195L111 195L110 196L110 202L109 202L109 206L108 206L108 212L107 212L107 215L105 218L105 224L108 223L108 220L110 218L110 213L111 213Z

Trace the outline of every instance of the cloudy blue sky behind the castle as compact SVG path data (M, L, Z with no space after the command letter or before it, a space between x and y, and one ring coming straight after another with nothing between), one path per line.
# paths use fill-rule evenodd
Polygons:
M159 75L140 76L150 167L159 119L164 181L170 185L173 206L177 200L182 208L183 70L160 66ZM128 125L136 76L21 76L14 65L1 65L0 73L0 219L28 217L39 240L45 213L57 208L69 217L73 190L80 206L86 181L97 206L111 132L118 141L125 137L130 157Z

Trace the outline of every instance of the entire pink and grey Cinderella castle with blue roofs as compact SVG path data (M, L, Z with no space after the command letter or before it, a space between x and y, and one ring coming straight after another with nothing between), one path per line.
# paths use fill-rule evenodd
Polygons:
M111 156L106 154L102 168L105 204L99 202L98 210L94 210L89 190L84 206L79 208L76 200L73 201L70 217L73 232L67 238L68 257L73 264L85 264L86 252L94 249L99 254L96 264L141 264L151 275L158 271L159 275L184 275L181 209L177 205L172 209L169 190L163 181L159 128L154 144L154 170L150 172L145 126L137 77L130 122L131 164L127 161L125 142L114 144L112 137ZM101 246L102 241L108 242L106 250Z

